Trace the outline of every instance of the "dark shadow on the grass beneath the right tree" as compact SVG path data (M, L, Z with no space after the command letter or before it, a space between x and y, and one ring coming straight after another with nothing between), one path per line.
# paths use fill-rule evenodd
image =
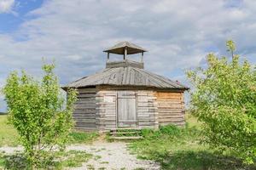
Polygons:
M163 169L255 169L256 165L245 166L241 160L231 156L221 156L207 151L179 151L172 155L159 154Z

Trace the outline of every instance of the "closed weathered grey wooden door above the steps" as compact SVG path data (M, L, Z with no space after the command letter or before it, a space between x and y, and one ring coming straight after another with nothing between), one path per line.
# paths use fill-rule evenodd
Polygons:
M137 105L133 91L118 92L118 127L136 127Z

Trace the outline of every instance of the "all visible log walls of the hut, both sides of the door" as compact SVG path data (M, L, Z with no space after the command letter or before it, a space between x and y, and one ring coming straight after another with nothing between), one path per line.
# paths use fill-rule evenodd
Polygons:
M117 98L119 89L80 88L73 119L79 130L105 131L117 128ZM135 92L137 127L158 128L170 123L183 125L183 92Z

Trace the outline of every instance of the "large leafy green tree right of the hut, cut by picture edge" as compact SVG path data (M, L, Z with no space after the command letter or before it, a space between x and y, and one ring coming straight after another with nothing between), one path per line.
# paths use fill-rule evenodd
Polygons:
M187 75L194 88L191 111L203 122L205 141L219 150L230 150L246 163L256 157L256 70L233 52L234 42L226 43L232 54L218 58L207 55L207 68Z

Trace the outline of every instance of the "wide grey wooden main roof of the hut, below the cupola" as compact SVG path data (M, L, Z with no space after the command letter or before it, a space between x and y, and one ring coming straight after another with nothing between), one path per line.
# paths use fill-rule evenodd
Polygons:
M107 68L89 77L67 84L64 88L84 88L97 85L140 86L151 88L188 89L178 82L136 67Z

